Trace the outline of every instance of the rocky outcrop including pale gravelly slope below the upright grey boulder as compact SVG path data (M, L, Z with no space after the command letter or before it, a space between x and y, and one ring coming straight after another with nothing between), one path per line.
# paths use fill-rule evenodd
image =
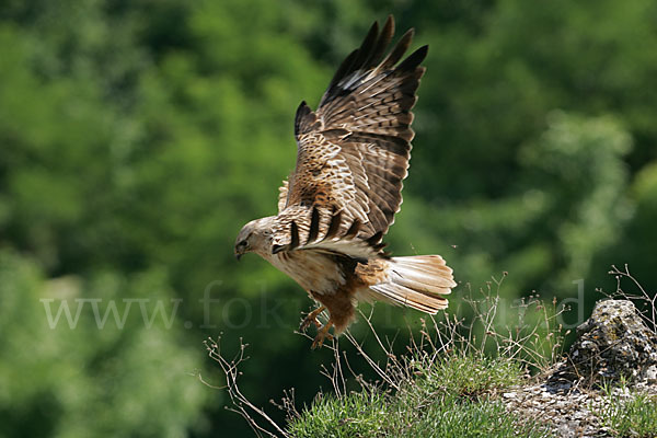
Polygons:
M615 397L657 393L657 334L631 301L606 300L577 327L569 354L548 379L503 399L510 411L552 424L558 437L609 437L598 417L609 399L599 387L621 379L630 387L612 389Z

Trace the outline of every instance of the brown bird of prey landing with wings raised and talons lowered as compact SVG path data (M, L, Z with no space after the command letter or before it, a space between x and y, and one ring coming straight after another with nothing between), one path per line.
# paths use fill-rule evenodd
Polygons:
M280 187L278 215L240 231L234 254L254 252L292 277L319 307L301 323L316 325L312 347L343 332L358 301L385 301L435 314L457 286L439 255L391 257L383 234L402 204L415 92L425 72L423 46L394 34L389 16L371 26L339 66L316 111L301 102L295 119L297 165ZM388 51L388 53L387 53ZM400 61L401 60L401 61ZM327 311L322 326L318 315Z

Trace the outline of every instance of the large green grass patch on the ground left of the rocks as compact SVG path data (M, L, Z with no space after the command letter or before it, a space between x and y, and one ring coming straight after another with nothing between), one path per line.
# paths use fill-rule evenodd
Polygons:
M414 378L394 393L321 396L288 425L293 437L550 437L509 414L495 394L522 377L510 359L449 355L411 362Z

